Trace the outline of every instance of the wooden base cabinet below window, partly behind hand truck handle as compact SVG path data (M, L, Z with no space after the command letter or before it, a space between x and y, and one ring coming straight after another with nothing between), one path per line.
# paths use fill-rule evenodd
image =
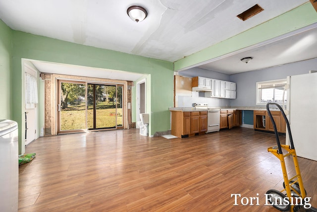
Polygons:
M255 110L253 115L254 129L258 131L274 132L273 123L271 122L267 111ZM273 120L278 133L286 133L286 123L280 111L271 111Z

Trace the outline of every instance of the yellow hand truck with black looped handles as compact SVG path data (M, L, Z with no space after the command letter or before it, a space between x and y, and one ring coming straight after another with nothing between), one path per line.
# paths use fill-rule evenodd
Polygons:
M277 106L278 109L281 111L282 116L286 122L290 145L283 145L280 143L276 124L269 110L270 105ZM268 147L267 151L274 154L280 160L282 172L283 172L283 178L284 178L284 182L283 182L284 189L282 191L270 189L266 192L266 195L265 195L266 200L267 202L270 203L268 205L272 205L274 208L283 212L285 211L317 212L317 209L313 208L311 204L309 203L311 199L307 197L306 190L303 185L303 180L302 180L301 171L298 165L298 160L297 160L296 151L295 151L295 147L293 143L290 125L283 109L281 108L279 104L269 102L266 104L266 111L272 122L275 138L276 138L276 143L277 143L277 145ZM283 154L282 148L286 150L288 153ZM286 165L284 160L284 158L287 156L293 157L293 162L294 162L295 171L296 171L296 175L294 175L291 178L288 178L287 176L287 170L286 170ZM286 192L286 195L283 194L283 192Z

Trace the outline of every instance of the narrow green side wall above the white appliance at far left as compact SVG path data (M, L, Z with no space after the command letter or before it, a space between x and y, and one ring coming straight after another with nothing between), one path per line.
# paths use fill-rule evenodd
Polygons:
M12 119L12 30L0 20L0 119Z

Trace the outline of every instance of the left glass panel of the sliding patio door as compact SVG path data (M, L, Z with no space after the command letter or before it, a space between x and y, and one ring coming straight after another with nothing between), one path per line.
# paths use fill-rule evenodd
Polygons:
M82 82L60 82L59 131L86 129L86 86Z

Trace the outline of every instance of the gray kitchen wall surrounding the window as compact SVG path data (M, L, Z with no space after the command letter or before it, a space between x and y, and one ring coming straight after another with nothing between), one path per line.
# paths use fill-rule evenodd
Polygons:
M317 58L263 70L232 74L229 81L237 83L237 98L230 100L230 106L259 107L256 105L256 82L284 79L287 76L304 74L311 70L317 70Z

